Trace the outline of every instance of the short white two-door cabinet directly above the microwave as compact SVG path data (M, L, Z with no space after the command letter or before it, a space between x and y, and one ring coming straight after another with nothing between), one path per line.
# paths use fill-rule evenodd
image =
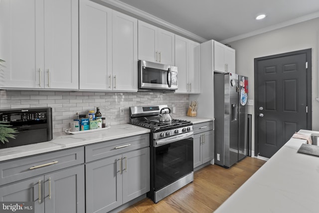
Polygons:
M140 20L138 23L139 59L174 66L175 34Z

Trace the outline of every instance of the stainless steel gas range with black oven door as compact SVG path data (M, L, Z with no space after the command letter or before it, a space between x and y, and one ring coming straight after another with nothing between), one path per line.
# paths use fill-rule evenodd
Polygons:
M193 126L189 121L160 122L167 105L130 107L130 123L151 130L151 191L155 203L194 180Z

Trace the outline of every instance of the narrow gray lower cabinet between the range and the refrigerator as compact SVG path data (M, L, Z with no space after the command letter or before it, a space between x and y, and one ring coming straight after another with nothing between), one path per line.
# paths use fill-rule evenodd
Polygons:
M194 129L194 168L214 158L214 124L204 122L193 125Z

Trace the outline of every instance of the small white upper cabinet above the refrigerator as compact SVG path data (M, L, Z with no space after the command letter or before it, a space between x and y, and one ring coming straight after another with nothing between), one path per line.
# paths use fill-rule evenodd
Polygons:
M235 73L235 50L214 41L214 70Z

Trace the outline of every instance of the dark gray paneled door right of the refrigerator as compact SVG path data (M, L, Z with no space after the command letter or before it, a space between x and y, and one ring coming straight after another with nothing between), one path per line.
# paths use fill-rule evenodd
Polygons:
M255 59L255 155L270 158L295 132L311 129L309 79L311 49Z

